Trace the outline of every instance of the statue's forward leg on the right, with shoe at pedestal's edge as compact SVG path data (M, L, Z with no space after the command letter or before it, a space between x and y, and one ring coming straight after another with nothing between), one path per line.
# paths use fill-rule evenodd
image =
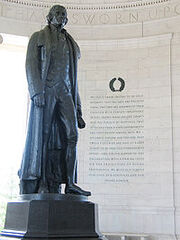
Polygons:
M65 193L73 193L79 195L91 195L90 192L84 191L75 183L76 169L76 146L78 140L78 127L76 110L71 94L61 95L58 101L58 116L63 124L66 141L66 188Z

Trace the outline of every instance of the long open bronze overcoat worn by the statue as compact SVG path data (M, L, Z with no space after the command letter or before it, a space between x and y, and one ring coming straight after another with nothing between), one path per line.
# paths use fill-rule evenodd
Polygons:
M70 54L70 82L72 97L76 110L81 109L77 86L77 61L80 58L80 50L74 39L63 30L66 35ZM45 92L45 81L51 60L53 48L53 34L49 26L35 32L28 45L26 57L26 74L28 89L31 99L37 94ZM81 110L80 110L81 111ZM56 150L61 148L61 140L56 122L52 126L51 146ZM18 172L21 180L35 180L42 176L42 149L43 149L43 108L36 107L31 101L28 131L23 153L21 168ZM50 148L51 148L50 146ZM61 163L62 164L62 163ZM61 170L63 166L60 167ZM59 171L60 172L60 171ZM60 182L65 182L63 173L58 173Z

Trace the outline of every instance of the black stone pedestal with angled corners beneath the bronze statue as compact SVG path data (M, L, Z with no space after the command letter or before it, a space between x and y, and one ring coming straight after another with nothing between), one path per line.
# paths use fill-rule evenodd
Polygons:
M87 197L71 194L24 194L9 202L1 236L102 238L97 205Z

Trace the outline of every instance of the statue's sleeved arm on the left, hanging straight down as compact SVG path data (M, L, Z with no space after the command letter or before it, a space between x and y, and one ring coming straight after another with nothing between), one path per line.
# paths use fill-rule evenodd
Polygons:
M39 32L29 40L26 55L26 75L31 99L44 93L44 84L41 79L41 48L38 46Z

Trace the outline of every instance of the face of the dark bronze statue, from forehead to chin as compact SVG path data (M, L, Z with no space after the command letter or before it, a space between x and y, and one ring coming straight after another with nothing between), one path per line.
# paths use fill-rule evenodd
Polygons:
M53 10L51 24L63 28L67 23L67 12L62 6L56 6Z

